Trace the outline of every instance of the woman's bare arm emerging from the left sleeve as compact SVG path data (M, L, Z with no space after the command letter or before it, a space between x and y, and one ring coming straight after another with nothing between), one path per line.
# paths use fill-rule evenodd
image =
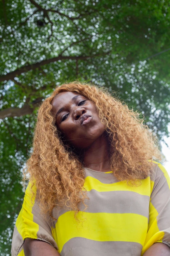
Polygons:
M25 256L60 256L50 244L36 239L26 238L23 249Z

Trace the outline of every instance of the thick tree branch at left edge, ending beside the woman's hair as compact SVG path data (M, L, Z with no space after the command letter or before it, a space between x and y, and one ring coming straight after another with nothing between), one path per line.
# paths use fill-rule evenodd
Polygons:
M36 99L33 101L32 107L29 105L24 105L22 108L9 108L9 109L4 109L0 111L0 119L4 119L6 117L14 117L14 116L22 116L22 115L28 115L32 114L34 109L39 106L40 102L42 101L42 97Z

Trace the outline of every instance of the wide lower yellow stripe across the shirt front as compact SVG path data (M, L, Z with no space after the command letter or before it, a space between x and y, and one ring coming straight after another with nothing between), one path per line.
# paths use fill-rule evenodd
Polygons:
M78 213L62 214L56 223L59 252L64 244L74 237L95 241L127 241L144 244L148 218L134 213Z

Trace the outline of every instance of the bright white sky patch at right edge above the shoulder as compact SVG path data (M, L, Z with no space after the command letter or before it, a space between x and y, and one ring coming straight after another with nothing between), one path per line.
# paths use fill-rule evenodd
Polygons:
M168 125L168 131L170 134L170 124ZM170 176L170 136L164 137L165 142L168 144L169 148L165 145L165 143L161 142L162 145L162 152L164 156L166 157L166 162L163 163L163 166L165 167L166 171L168 172Z

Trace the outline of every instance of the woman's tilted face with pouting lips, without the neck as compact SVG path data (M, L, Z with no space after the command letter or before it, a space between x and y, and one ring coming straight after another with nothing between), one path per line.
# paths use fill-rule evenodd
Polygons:
M83 95L62 92L53 98L51 105L57 128L76 148L87 148L105 131L95 104Z

